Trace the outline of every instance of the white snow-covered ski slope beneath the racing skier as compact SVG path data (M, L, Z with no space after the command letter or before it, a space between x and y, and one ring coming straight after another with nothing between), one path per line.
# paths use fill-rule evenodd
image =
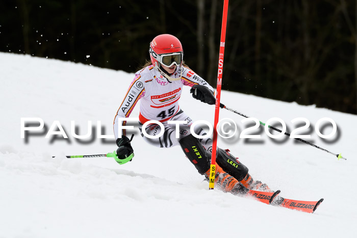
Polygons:
M298 200L325 200L314 214L269 206L253 199L208 190L181 148L145 144L137 127L132 162L112 158L66 158L64 155L113 152L112 124L133 73L0 53L0 237L355 237L357 232L357 116L223 91L221 102L266 122L284 120L289 130L297 117L307 118L309 141L347 161L293 139L239 139L243 117L220 111L238 125L237 136L219 137L218 145L239 157L253 178ZM224 75L223 75L224 81ZM336 95L331 95L336 96ZM138 117L138 106L131 117ZM181 108L194 120L213 124L214 107L194 100L189 89ZM323 117L338 126L333 141L316 135ZM21 139L21 118L41 118L44 129ZM94 136L75 139L88 132ZM45 138L58 121L68 139ZM100 121L100 126L97 126ZM56 125L56 124L55 124ZM36 124L32 126L38 126ZM135 126L135 124L134 124ZM57 127L55 127L57 128ZM261 127L263 128L263 127ZM58 130L58 129L55 129ZM327 126L321 131L327 135ZM284 140L283 140L284 139ZM52 156L55 155L55 158Z

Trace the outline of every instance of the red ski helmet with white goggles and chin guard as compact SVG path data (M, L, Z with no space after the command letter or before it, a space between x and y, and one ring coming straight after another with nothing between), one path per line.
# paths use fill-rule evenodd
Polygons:
M169 34L159 35L150 42L149 53L154 68L172 80L161 65L171 67L175 64L177 68L182 66L184 51L180 40Z

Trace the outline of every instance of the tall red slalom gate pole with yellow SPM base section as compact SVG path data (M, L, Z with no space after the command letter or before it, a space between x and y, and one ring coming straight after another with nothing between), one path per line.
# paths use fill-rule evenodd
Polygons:
M225 44L225 28L227 24L227 11L228 0L224 0L223 3L223 16L222 16L222 29L221 29L221 41L219 47L219 59L218 59L218 76L217 76L217 91L216 91L216 108L214 116L213 127L213 144L212 144L212 157L211 157L211 170L210 170L210 189L214 189L214 180L216 175L216 150L217 150L217 124L219 119L219 103L221 98L221 85L222 85L222 73L223 73L223 57L224 57L224 44Z

